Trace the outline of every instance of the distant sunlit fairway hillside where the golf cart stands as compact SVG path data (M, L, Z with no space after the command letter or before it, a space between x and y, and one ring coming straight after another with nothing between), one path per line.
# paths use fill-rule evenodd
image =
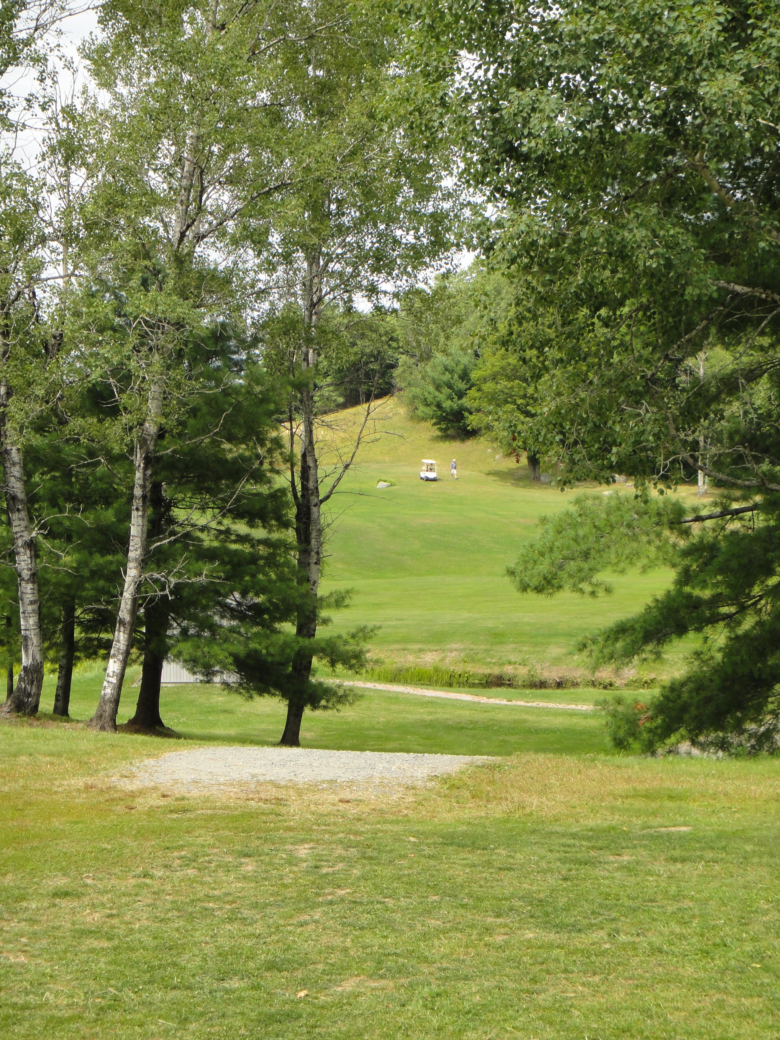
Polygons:
M355 417L344 413L336 441L347 441ZM582 635L667 587L669 574L656 571L619 575L614 595L597 600L515 592L506 567L535 536L539 517L566 508L573 493L531 484L524 462L497 454L482 439L438 436L411 421L398 401L378 411L374 436L331 499L323 586L353 590L349 608L334 617L337 629L379 626L373 657L581 669L571 650ZM457 482L449 477L452 457ZM436 484L419 479L422 458L437 460ZM378 490L382 478L393 486ZM671 667L681 653L673 651Z

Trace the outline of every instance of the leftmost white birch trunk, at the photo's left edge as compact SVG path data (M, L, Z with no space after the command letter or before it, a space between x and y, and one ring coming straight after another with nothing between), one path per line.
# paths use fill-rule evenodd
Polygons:
M3 465L5 504L14 536L14 555L19 582L19 620L22 634L22 668L16 688L3 704L4 714L34 716L44 685L44 644L41 636L41 603L37 587L35 534L27 509L22 449L11 442L5 422L10 389L0 380L0 459Z

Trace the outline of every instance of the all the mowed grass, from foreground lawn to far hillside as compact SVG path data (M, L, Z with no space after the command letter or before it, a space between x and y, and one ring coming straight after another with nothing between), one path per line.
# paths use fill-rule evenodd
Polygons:
M595 602L518 596L503 568L566 497L479 441L432 440L396 405L387 427L336 498L328 576L355 589L337 625L382 624L378 656L574 668L579 634L668 580L622 577ZM452 453L457 485L420 485L418 458ZM395 483L376 492L382 476ZM76 673L74 719L101 680ZM175 686L162 716L181 739L45 713L0 724L0 1037L780 1035L780 760L620 756L596 713L370 691L307 713L304 744L494 760L399 789L118 780L170 751L274 744L284 707Z

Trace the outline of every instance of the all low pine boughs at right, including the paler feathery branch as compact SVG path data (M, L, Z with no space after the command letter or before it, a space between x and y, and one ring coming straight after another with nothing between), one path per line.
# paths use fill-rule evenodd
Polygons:
M686 511L673 496L581 496L572 510L543 521L538 541L511 569L521 592L596 596L609 591L599 577L604 570L673 564L667 592L578 647L603 667L657 658L692 633L703 640L686 672L652 699L645 746L756 729L771 746L780 719L776 499L765 495L759 512L701 523L694 531L699 524L680 522ZM624 717L618 711L616 718Z

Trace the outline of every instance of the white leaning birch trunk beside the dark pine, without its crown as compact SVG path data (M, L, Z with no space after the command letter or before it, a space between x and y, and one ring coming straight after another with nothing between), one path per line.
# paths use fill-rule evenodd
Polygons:
M122 590L122 599L116 615L116 628L113 633L113 643L108 656L108 667L106 668L106 677L103 680L100 701L95 714L87 723L92 729L101 730L104 733L116 732L116 713L120 708L122 683L125 680L125 671L132 646L135 612L138 607L138 590L144 579L144 561L147 554L149 532L149 492L152 485L154 452L162 416L163 388L164 376L156 376L149 391L147 419L133 452L135 479L125 586Z

